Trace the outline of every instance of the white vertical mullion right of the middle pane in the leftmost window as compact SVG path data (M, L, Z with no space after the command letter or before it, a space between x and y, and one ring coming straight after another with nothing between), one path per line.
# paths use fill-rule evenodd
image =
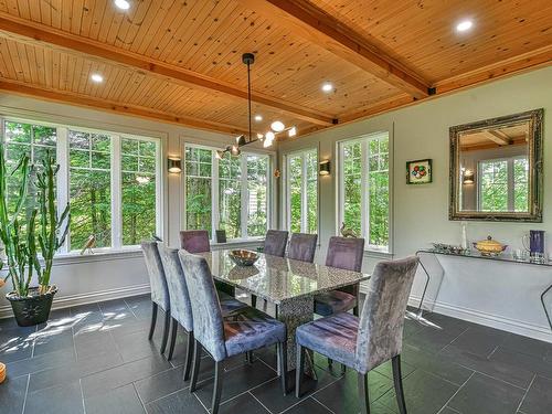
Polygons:
M123 246L123 191L121 191L120 136L112 136L112 246Z

